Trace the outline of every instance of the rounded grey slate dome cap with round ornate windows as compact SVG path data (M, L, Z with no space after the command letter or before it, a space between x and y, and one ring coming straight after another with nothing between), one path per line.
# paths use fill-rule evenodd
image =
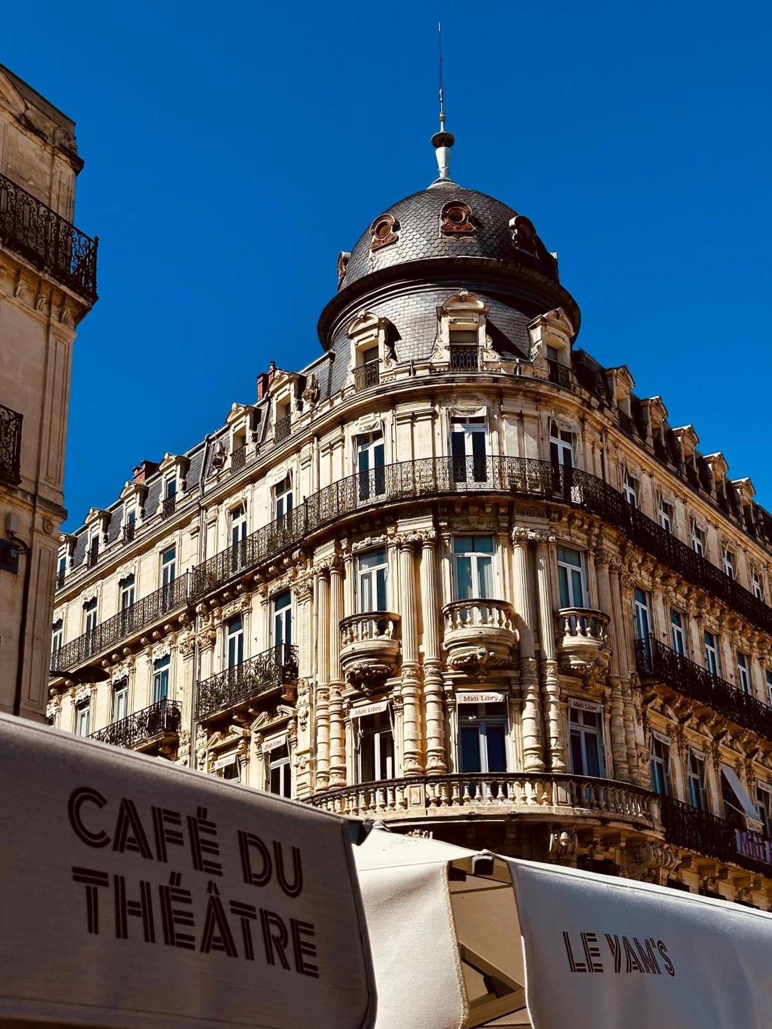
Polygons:
M339 288L374 272L437 257L526 264L558 278L555 261L528 218L487 193L438 179L386 208L351 255L341 255Z

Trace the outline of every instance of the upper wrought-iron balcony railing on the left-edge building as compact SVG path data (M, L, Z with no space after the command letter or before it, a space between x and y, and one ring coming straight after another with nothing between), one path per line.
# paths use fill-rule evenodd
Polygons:
M99 237L92 240L5 175L0 175L0 242L96 300Z

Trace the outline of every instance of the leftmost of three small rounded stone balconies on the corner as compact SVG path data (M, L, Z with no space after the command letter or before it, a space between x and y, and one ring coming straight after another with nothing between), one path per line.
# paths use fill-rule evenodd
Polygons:
M350 614L341 622L341 667L349 685L369 693L393 675L399 662L399 615L392 611Z

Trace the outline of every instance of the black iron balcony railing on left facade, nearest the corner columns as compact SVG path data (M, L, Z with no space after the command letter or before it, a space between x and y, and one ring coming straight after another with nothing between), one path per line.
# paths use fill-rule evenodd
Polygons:
M211 718L258 694L297 679L297 647L279 643L199 682L196 717Z

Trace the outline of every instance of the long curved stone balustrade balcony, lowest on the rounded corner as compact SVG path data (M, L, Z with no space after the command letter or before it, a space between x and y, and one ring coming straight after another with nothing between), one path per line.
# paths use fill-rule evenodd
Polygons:
M651 790L611 779L549 772L462 773L417 779L382 779L341 786L310 797L317 808L357 818L447 818L465 812L565 818L592 817L644 822L659 820Z

